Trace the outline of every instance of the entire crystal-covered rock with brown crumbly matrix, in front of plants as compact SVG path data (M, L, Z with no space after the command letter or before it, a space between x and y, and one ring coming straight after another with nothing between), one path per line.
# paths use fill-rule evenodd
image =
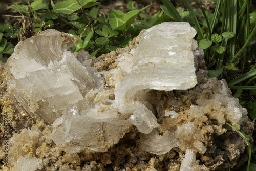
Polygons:
M160 35L154 37L154 29ZM161 36L174 44L161 42ZM97 59L68 51L75 38L54 30L20 42L2 76L0 159L5 161L8 139L13 170L23 165L32 170L239 167L247 146L225 122L251 142L254 124L226 81L207 77L194 36L187 23L163 23L142 31L129 47ZM158 43L144 52L148 37ZM185 70L176 72L183 57ZM166 81L166 71L180 75Z

